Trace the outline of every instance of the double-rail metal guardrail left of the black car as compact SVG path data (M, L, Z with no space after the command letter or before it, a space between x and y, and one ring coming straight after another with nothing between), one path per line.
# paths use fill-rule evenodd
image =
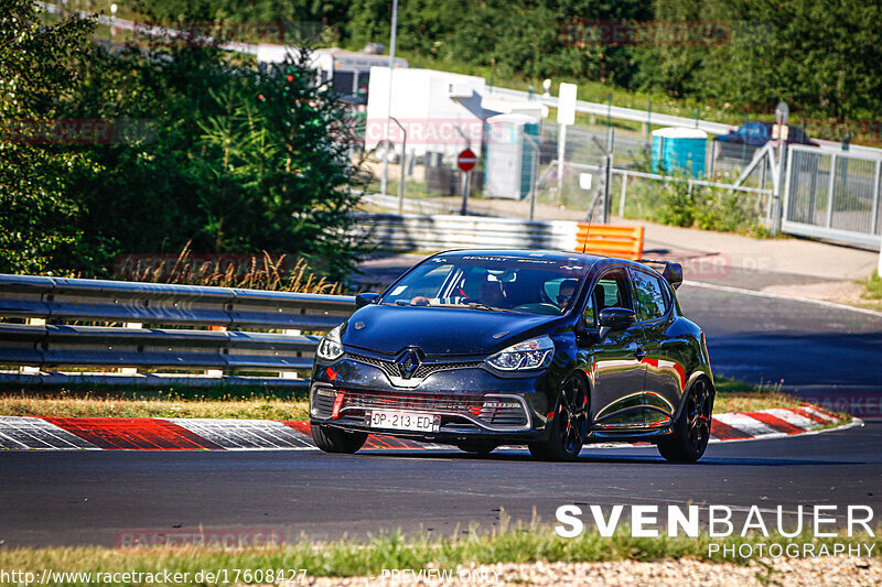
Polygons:
M0 274L0 317L26 320L0 323L0 365L13 368L0 381L305 385L297 373L320 337L301 330L329 330L353 309L343 295Z

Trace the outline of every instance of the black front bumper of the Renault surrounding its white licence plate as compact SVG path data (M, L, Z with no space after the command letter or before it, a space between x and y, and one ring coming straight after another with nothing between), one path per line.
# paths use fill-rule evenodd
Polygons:
M310 385L310 422L444 444L497 443L545 437L550 398L548 370L498 373L483 361L427 361L421 377L404 380L389 361L344 355L316 360ZM434 417L431 432L372 427L376 410Z

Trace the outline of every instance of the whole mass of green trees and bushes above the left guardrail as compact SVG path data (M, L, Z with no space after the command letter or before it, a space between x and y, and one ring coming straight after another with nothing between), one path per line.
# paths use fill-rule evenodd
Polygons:
M309 50L260 70L211 45L110 53L90 39L93 21L41 26L26 0L8 11L0 118L137 123L88 144L0 135L0 271L107 276L118 253L192 243L348 272L348 213L364 183L355 121L330 84L313 83Z

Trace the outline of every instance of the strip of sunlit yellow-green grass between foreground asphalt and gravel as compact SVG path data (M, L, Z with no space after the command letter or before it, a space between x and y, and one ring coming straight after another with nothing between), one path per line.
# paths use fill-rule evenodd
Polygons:
M583 517L584 519L584 517ZM588 528L588 526L587 526ZM503 520L492 532L474 526L454 536L429 537L424 533L404 536L391 533L367 541L342 540L313 543L302 537L288 545L220 550L217 547L151 547L114 550L104 547L46 547L0 550L0 568L36 573L45 568L65 572L114 573L138 570L141 573L189 573L192 577L201 569L305 569L306 577L314 576L372 576L383 569L424 568L455 569L458 565L533 562L655 562L676 558L698 558L709 562L746 564L743 558L711 556L708 545L743 543L815 543L829 545L875 545L874 556L882 551L882 539L856 534L852 537L813 539L808 534L795 539L783 536L711 539L707 533L698 537L632 537L627 523L620 524L611 537L587 531L574 539L562 539L553 530L538 522L510 525ZM662 530L664 533L664 530ZM767 546L766 546L767 547ZM55 585L90 585L97 583L58 581Z

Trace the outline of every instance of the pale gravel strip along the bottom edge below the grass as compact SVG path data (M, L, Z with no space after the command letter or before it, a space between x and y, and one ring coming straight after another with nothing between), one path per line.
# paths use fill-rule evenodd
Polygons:
M419 573L420 569L413 569ZM315 587L496 587L603 585L633 587L654 585L680 587L779 587L882 585L882 561L878 558L777 558L752 562L747 566L708 563L690 558L637 563L498 563L449 569L452 579L439 579L437 573L420 579L406 574L396 577L313 577L304 585ZM464 580L463 580L464 579Z

